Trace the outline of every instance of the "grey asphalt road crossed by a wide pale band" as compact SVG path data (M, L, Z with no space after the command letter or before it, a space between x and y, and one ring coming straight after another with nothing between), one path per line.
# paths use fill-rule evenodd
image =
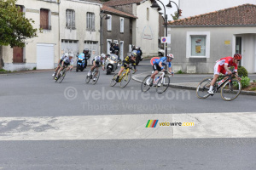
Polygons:
M136 74L151 68L143 61ZM143 94L133 80L109 87L103 71L85 84L86 72L68 72L61 84L52 72L0 75L0 169L255 169L255 96ZM148 120L194 126L145 127Z

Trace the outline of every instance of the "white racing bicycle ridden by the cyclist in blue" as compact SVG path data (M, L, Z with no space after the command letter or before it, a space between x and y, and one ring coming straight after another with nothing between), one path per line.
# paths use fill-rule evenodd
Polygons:
M166 92L166 89L169 87L170 85L170 77L168 77L166 75L166 73L172 74L168 71L160 71L160 77L158 77L157 80L155 80L155 77L153 78L153 82L151 82L149 85L147 84L147 80L148 78L151 77L151 75L148 75L147 77L144 78L142 85L141 85L141 89L143 92L147 92L149 90L149 88L151 88L152 86L156 87L156 92L158 94L162 94L164 92Z

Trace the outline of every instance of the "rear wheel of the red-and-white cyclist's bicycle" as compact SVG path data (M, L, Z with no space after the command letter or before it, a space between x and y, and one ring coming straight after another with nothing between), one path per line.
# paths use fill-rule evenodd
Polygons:
M206 99L209 97L208 90L210 89L212 78L205 78L199 82L196 88L196 95L199 99Z

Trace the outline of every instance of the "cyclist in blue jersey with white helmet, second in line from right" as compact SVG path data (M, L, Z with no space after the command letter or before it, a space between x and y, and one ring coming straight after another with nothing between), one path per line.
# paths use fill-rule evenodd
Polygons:
M173 76L173 72L172 72L172 68L171 68L172 59L174 59L173 54L167 54L167 57L162 57L160 59L155 59L154 65L153 65L154 73L152 73L151 77L149 77L147 82L146 82L148 86L153 82L153 78L155 77L155 75L157 75L159 73L159 71L165 71L164 66L167 65L167 64L168 64L168 67L169 67L169 72Z

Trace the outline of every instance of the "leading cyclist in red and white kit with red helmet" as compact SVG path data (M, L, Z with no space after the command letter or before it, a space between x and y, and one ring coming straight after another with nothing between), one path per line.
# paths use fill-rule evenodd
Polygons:
M229 56L229 57L224 57L222 59L218 59L218 61L216 61L216 64L214 65L213 79L211 82L210 89L208 90L208 94L213 94L212 88L218 79L219 73L222 73L224 75L231 75L232 72L229 69L230 66L234 66L235 67L234 71L237 72L237 65L238 65L239 61L241 61L241 54L234 54L233 58ZM226 79L226 78L228 78L228 77L224 77L224 79ZM241 80L240 77L236 76L236 78L239 81ZM222 82L224 82L224 81L222 81ZM220 85L220 84L221 84L221 82L218 83L218 85Z

